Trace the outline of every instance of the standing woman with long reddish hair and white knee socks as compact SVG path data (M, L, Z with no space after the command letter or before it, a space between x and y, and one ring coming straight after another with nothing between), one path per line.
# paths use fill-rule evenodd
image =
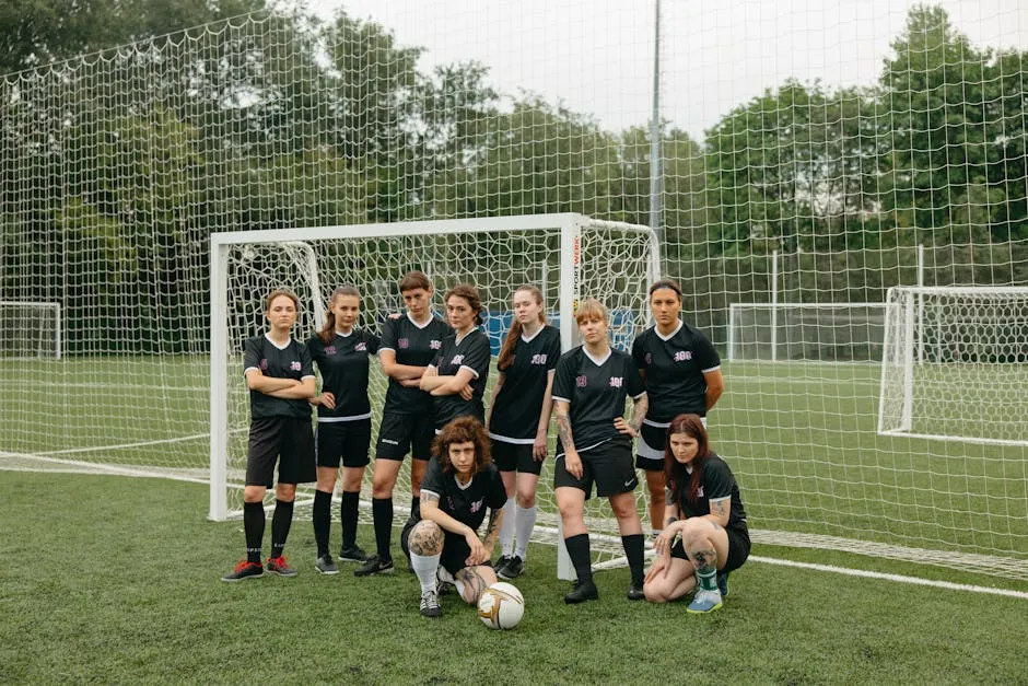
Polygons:
M507 495L497 561L497 574L503 579L516 579L525 567L560 359L560 332L546 318L542 292L522 286L512 300L514 321L497 360L500 379L492 389L488 423L492 460Z

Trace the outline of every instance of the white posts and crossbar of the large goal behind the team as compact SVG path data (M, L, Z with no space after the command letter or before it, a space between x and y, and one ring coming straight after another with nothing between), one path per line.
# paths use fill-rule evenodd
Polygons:
M227 417L227 394L230 380L225 360L229 356L229 251L231 246L241 244L288 244L299 249L294 251L297 255L304 254L306 242L317 241L340 241L346 239L388 239L411 235L439 235L447 234L478 234L517 231L534 232L545 231L551 235L559 235L558 261L560 269L560 280L558 284L557 310L560 313L560 333L561 344L564 350L570 350L575 345L577 330L575 327L573 313L577 307L580 298L583 295L581 290L581 269L580 264L583 259L581 243L582 232L586 229L611 229L622 232L635 233L641 242L649 245L645 256L645 272L649 282L654 281L659 275L659 244L655 232L649 226L638 224L627 224L622 222L606 222L591 219L579 213L554 213L554 214L533 214L521 217L499 217L488 219L458 219L458 220L433 220L433 221L410 221L395 223L376 224L354 224L339 226L319 226L305 229L282 229L265 231L242 231L213 233L210 237L210 350L211 350L211 376L210 376L210 510L209 519L223 521L237 513L230 511L227 501L227 470L226 455L229 452L229 417ZM293 259L303 259L294 257ZM313 253L308 257L314 260ZM640 263L640 266L641 263ZM611 266L617 269L617 265ZM309 266L312 274L317 274L317 265L312 261ZM401 275L396 275L399 278ZM516 284L512 284L516 286ZM320 312L324 310L324 294L319 294L320 287L317 283L312 284L311 293L301 293L300 297L305 303L313 303L317 317L320 321ZM604 299L604 293L586 293L585 295L596 295ZM246 298L257 298L260 294L246 293L240 294ZM644 306L645 293L640 293L640 306ZM649 316L649 315L647 315ZM559 519L559 518L558 518ZM537 528L546 528L540 522ZM539 538L554 542L558 544L558 575L561 579L573 579L574 571L563 550L562 537L559 532L540 531ZM534 536L534 538L536 538ZM601 542L597 542L601 543ZM620 548L620 539L617 542ZM611 544L610 547L614 547Z

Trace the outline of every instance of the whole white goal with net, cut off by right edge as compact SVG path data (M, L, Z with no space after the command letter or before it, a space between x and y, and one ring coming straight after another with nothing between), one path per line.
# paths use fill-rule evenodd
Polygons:
M878 433L1028 445L1028 288L889 289Z

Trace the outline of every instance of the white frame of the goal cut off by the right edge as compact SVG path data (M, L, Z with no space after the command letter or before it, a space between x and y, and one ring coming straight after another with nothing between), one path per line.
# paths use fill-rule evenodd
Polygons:
M958 441L991 445L1025 446L1023 440L1006 440L979 435L951 434L946 432L926 433L913 430L914 416L914 372L925 365L946 367L946 363L930 361L925 354L924 321L925 299L944 298L985 298L1024 299L1028 303L1028 287L916 287L898 286L888 290L886 297L886 330L883 345L881 377L878 392L879 435L937 441ZM1028 340L1026 340L1028 342ZM963 365L960 362L948 367ZM895 404L896 387L901 391L898 417L891 411ZM1028 393L1028 388L1025 391Z

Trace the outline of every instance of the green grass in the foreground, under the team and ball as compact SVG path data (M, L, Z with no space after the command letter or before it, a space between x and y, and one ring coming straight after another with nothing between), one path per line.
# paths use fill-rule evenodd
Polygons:
M3 473L0 521L10 545L0 566L0 682L1025 678L1028 601L1020 598L750 561L733 574L725 607L710 616L687 615L680 603L629 603L626 570L597 577L599 602L566 606L553 548L534 546L517 582L525 618L499 632L452 595L441 619L422 618L405 563L388 578L319 577L305 519L294 523L287 550L297 578L221 583L243 534L237 522L206 521L206 503L207 489L196 484ZM363 530L360 539L370 538ZM817 555L836 563L845 557Z

